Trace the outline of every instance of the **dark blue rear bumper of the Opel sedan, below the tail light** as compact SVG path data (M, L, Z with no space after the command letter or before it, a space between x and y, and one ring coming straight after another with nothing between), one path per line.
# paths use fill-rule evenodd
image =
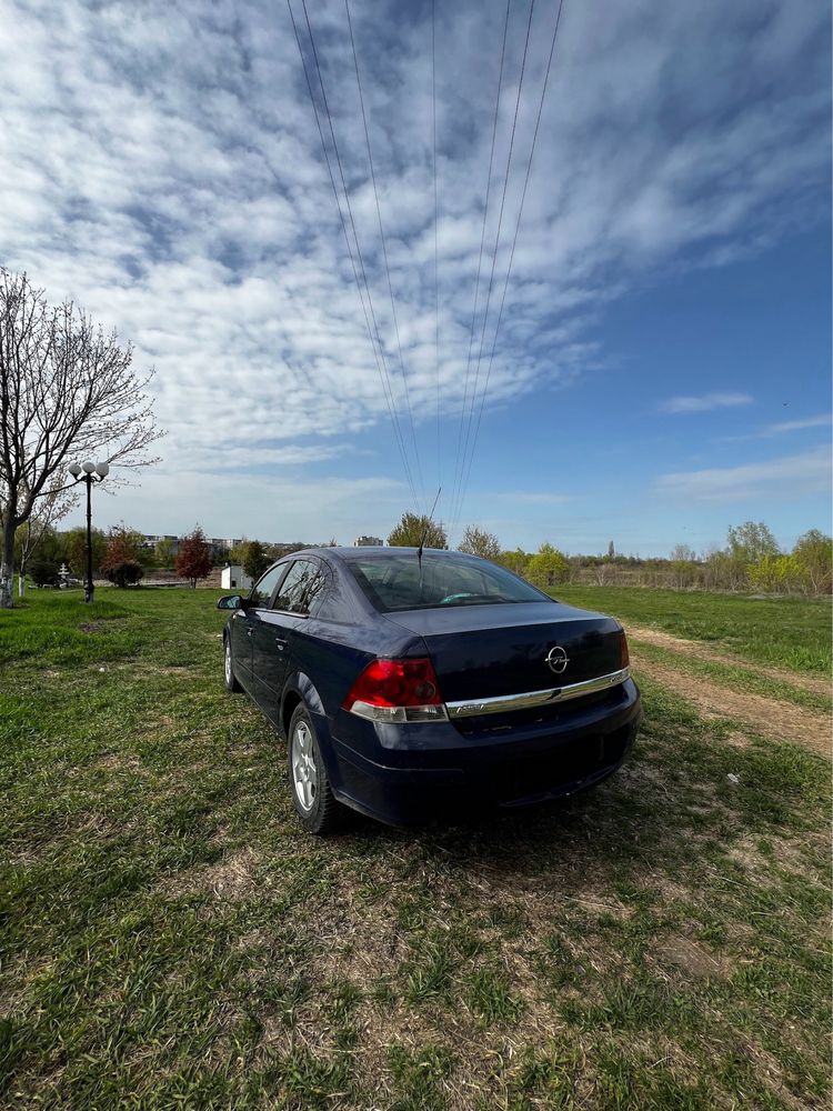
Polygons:
M339 712L317 721L337 797L394 825L420 825L489 807L581 791L612 774L642 717L633 680L592 705L550 720L461 732L450 722L378 725Z

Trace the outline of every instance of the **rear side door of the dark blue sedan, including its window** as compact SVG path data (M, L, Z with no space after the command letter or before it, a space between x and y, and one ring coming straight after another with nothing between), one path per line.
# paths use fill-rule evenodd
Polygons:
M258 700L275 722L280 719L294 633L307 623L323 581L318 560L297 559L280 582L270 608L258 611L252 633L252 673Z

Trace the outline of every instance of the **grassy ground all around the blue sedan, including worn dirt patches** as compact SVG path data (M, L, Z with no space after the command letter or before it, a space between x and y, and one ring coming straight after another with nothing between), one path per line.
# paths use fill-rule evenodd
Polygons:
M214 597L0 615L0 1105L829 1107L829 605L568 588L729 662L634 639L594 793L317 840Z

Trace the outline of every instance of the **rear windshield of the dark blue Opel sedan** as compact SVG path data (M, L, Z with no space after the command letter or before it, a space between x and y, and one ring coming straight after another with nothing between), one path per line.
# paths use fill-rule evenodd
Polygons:
M380 613L438 605L551 601L503 568L453 552L424 552L421 571L415 552L385 553L384 559L357 557L349 567Z

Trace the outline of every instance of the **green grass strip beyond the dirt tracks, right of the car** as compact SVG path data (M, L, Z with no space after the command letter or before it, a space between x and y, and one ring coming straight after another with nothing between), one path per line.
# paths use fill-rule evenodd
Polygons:
M625 623L702 640L756 663L807 674L831 673L830 598L750 598L569 583L554 593Z

